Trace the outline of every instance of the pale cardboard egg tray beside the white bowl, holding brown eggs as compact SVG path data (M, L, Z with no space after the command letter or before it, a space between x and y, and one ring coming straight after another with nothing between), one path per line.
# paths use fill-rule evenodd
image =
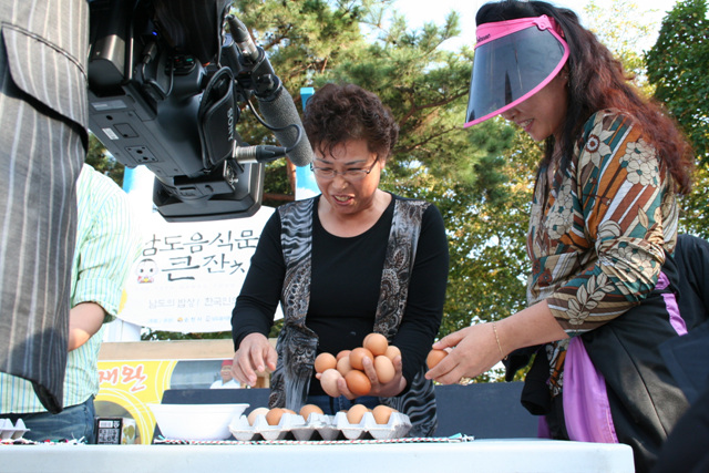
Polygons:
M409 417L393 412L387 424L378 424L371 412L364 413L362 421L351 424L345 412L335 415L312 413L308 420L297 414L284 414L278 425L268 425L265 415L257 415L254 425L249 425L246 415L240 415L229 425L234 438L239 441L286 440L295 438L307 440L337 440L340 434L347 440L372 438L376 440L399 439L411 430ZM316 433L319 435L316 435Z

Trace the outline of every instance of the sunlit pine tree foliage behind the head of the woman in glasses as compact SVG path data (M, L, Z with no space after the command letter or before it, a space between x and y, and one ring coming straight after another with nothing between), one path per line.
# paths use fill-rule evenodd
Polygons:
M410 32L404 19L394 16L391 25L383 29L381 17L389 3L246 0L237 2L235 13L267 51L298 105L300 88L347 81L378 93L392 107L401 128L389 163L393 175L407 177L414 172L411 164L415 162L429 165L439 176L473 184L475 173L464 155L470 144L461 133L472 53L441 48L459 34L459 17L452 13L442 27L428 24ZM362 27L377 40L366 41ZM263 127L251 127L246 121L239 125L239 133L251 140L271 140ZM278 166L282 163L275 164ZM291 193L284 188L286 182L276 186L268 177L268 192Z

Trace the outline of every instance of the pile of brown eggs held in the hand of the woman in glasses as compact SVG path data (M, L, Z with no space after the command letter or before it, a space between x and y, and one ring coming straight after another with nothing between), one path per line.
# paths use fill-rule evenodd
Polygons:
M367 395L372 389L369 377L364 373L362 360L372 360L377 379L386 384L394 378L393 360L401 351L390 346L387 337L381 333L370 333L364 337L361 347L342 350L337 357L332 353L320 353L315 359L315 370L320 373L320 384L326 394L337 398L341 392L337 385L340 378L345 378L347 389L357 397Z

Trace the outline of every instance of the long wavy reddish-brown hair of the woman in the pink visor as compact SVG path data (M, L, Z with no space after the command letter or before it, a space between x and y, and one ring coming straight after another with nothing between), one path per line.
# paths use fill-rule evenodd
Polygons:
M569 49L568 109L558 143L563 152L562 168L568 165L575 140L586 121L600 110L617 109L633 117L645 140L657 150L677 191L689 193L693 152L679 126L658 102L643 97L630 82L634 76L593 32L580 25L576 13L544 1L503 0L482 6L475 22L480 25L542 14L556 20ZM553 136L546 140L545 162L551 160L555 144Z

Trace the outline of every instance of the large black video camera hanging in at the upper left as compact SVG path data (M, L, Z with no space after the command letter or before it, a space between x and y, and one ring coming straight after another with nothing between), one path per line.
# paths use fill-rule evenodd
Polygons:
M312 161L292 97L230 3L90 2L89 127L121 164L155 174L153 203L168 222L251 216L264 163ZM242 141L238 105L253 110L253 97L281 146Z

